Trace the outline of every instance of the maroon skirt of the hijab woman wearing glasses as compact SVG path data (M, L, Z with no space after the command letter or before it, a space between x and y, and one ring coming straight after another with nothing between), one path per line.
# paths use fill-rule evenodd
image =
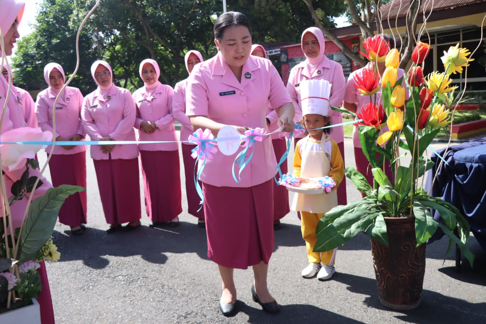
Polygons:
M135 222L142 216L139 159L93 160L104 218L108 224Z

